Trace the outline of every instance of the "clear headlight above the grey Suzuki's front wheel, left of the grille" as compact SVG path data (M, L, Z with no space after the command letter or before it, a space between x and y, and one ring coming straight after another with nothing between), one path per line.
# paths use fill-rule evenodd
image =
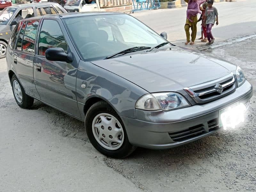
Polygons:
M163 110L169 111L172 109L190 106L188 101L179 93L164 92L152 93L142 96L136 103L137 109L148 111Z

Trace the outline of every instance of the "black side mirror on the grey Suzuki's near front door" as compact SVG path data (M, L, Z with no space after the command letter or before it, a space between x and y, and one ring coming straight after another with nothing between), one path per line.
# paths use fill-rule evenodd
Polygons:
M66 53L62 48L49 48L45 51L45 58L50 61L64 61L71 63L73 61L72 53L68 50Z

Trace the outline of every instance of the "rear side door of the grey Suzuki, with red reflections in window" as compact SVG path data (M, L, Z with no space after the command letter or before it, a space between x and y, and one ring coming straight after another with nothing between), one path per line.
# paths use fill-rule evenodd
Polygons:
M19 35L17 44L13 50L13 66L16 75L22 84L25 92L35 98L40 99L34 84L33 61L35 56L35 39L39 26L39 20L29 20L20 22L18 25Z

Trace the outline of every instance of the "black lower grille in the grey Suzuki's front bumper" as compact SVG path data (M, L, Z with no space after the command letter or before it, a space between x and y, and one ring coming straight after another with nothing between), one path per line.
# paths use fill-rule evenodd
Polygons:
M219 129L218 119L213 119L207 122L208 127L205 127L203 124L199 124L188 129L178 131L178 132L169 132L171 139L175 142L181 142L188 139L193 139L197 136L200 136L207 132L213 132ZM208 130L208 131L207 131Z

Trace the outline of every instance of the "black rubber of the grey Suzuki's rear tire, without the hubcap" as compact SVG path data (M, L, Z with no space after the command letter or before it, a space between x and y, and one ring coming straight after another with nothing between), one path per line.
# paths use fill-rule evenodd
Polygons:
M13 88L13 82L14 82L14 81L17 81L18 84L20 85L20 90L21 90L21 95L22 95L22 101L21 101L21 102L19 102L19 101L17 100L16 96L15 96L14 88ZM12 81L11 81L11 82L12 82L12 93L13 93L14 99L16 100L16 103L17 103L21 108L25 108L25 109L30 108L30 107L33 105L33 103L34 103L34 98L28 96L28 95L25 93L24 88L22 87L22 85L20 84L20 81L18 80L18 78L17 78L15 75L12 76Z

